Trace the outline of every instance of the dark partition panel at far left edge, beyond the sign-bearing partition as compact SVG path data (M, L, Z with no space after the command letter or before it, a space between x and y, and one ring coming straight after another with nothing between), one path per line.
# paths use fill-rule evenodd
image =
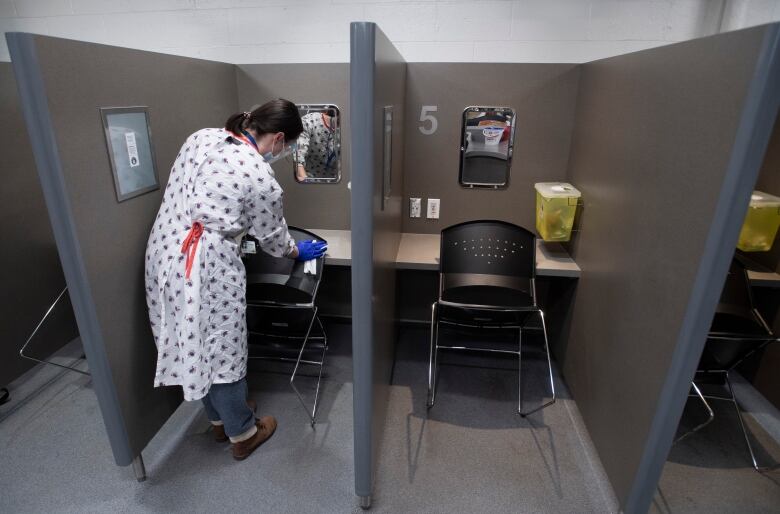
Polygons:
M19 356L19 348L65 287L9 62L0 63L0 173L2 387L33 366ZM77 336L73 309L69 297L64 297L31 342L29 353L44 358Z

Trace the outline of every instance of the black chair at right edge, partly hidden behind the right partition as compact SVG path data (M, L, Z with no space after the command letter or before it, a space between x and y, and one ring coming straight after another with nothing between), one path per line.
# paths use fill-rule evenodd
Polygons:
M689 396L702 401L708 417L704 423L681 435L675 442L712 423L715 413L707 403L708 399L726 400L734 405L753 467L760 470L742 420L742 412L731 386L729 373L755 352L777 340L764 318L754 307L747 270L740 258L735 256L726 276L696 375L691 383L692 394ZM702 394L701 386L705 384L725 386L728 396Z

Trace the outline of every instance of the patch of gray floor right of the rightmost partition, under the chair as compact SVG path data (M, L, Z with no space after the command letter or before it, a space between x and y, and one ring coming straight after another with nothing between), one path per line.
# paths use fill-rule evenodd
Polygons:
M710 393L722 394L712 390ZM743 417L759 464L769 468L756 472L733 404L722 401L710 404L715 412L714 421L672 447L650 512L780 513L780 446L753 416ZM773 415L777 415L776 411ZM689 400L679 434L705 419L701 403Z

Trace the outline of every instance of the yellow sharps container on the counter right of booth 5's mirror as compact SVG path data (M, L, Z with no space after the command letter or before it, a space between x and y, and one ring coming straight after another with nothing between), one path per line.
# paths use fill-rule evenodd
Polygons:
M545 241L568 241L581 193L565 182L538 182L536 230Z

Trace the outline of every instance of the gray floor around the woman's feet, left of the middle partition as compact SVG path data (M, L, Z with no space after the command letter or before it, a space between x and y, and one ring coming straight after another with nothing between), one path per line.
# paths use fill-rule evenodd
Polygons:
M274 437L236 462L226 443L212 440L199 403L185 403L144 450L144 483L114 464L89 379L37 371L12 391L16 398L37 391L31 400L0 407L0 512L356 510L349 326L329 334L315 430L285 376L252 373L258 412L279 420Z

